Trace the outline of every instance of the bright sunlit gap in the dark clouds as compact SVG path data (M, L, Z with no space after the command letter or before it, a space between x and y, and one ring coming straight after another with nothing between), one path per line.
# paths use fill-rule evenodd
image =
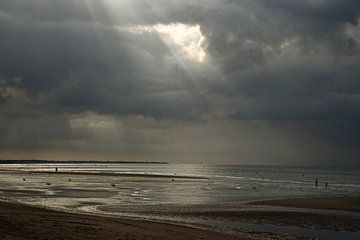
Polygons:
M155 24L155 25L137 25L121 30L136 34L146 32L157 32L169 46L175 46L172 49L175 54L181 54L188 59L197 62L203 62L206 58L204 50L205 37L201 33L200 26L183 23Z

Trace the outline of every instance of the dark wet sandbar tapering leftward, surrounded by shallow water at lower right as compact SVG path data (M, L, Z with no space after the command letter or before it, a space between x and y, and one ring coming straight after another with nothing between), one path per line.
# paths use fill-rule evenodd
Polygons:
M99 208L107 212L133 212L144 216L233 221L239 225L244 223L355 232L360 231L360 214L357 211L360 207L359 199L360 197L299 198L229 205L102 206ZM340 210L340 212L329 210Z

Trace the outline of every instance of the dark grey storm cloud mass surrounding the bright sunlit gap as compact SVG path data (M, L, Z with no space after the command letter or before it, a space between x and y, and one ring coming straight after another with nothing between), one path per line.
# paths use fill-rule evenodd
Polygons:
M9 126L18 129L20 147L36 136L26 126L38 122L47 140L90 139L69 125L71 114L88 111L216 116L266 122L295 143L316 138L319 158L342 149L333 155L347 151L356 161L359 16L357 0L2 0L0 132L10 139ZM199 24L209 66L172 56L156 32L126 30L169 23ZM63 134L45 127L49 115L59 116Z

